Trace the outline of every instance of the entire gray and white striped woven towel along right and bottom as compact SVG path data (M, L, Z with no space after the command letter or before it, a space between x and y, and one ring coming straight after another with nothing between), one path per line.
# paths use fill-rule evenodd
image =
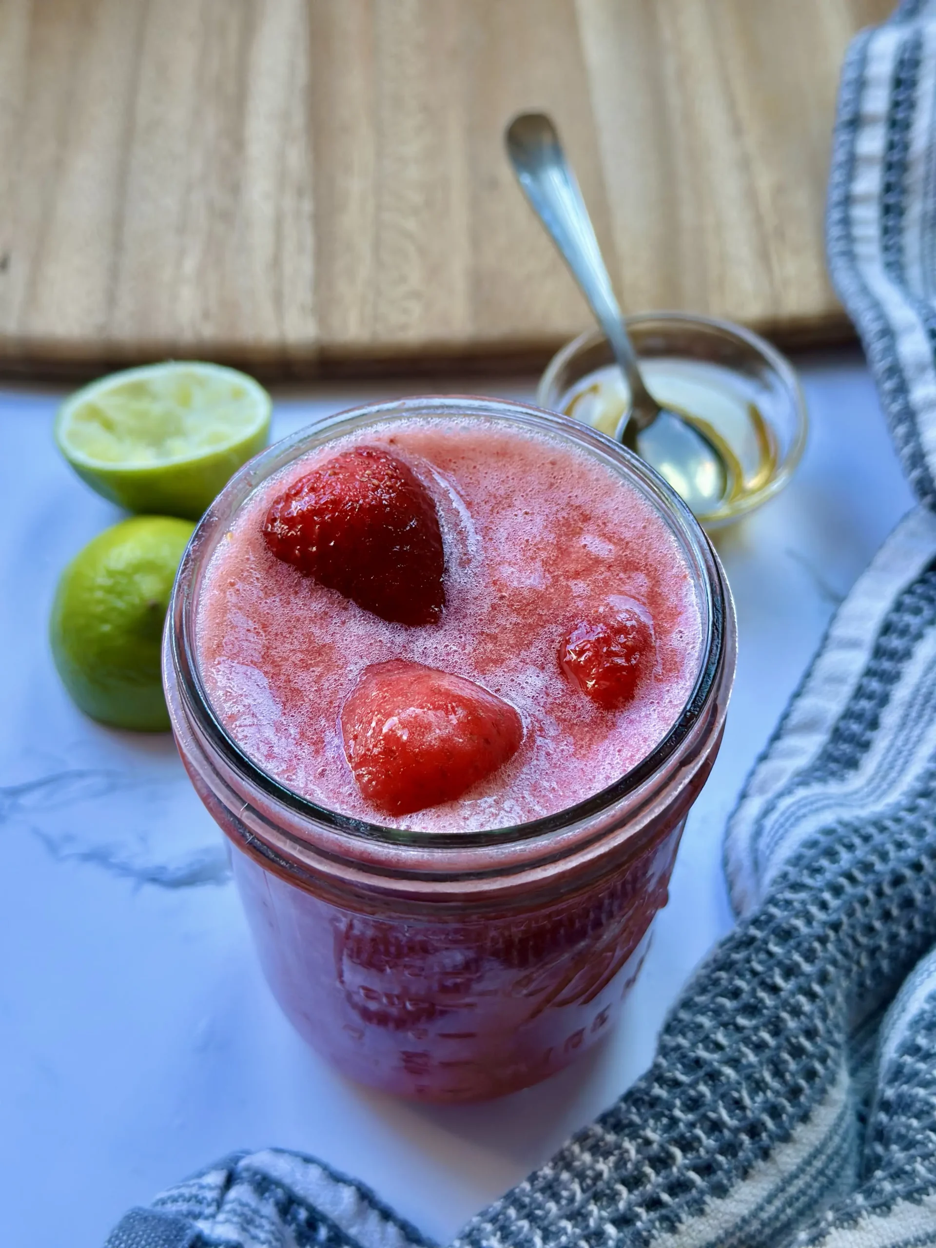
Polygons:
M650 1070L453 1248L936 1246L936 0L851 45L832 278L921 505L839 609L730 820L739 924ZM424 1248L321 1163L237 1156L107 1248Z

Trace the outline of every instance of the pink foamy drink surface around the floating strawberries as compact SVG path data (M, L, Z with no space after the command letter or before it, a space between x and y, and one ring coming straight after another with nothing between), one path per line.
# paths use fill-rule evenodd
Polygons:
M391 624L276 559L272 500L351 446L386 446L436 498L447 604L424 628ZM563 675L563 634L615 597L653 617L658 661L619 711ZM696 680L700 608L675 537L635 487L588 452L483 419L401 421L295 461L247 500L206 570L197 649L208 699L263 770L331 810L391 826L503 827L583 801L644 759ZM441 668L512 703L524 741L458 801L392 819L358 791L341 708L372 663Z

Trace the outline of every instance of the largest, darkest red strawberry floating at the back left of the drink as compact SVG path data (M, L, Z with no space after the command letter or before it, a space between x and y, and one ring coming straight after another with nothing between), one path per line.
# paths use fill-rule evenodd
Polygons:
M267 512L266 543L321 585L399 624L433 624L446 605L436 504L402 459L354 447L295 480Z

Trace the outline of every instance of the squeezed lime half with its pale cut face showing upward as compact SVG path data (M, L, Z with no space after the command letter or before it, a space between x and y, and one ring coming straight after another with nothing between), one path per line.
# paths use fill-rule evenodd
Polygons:
M65 401L55 441L75 472L129 512L197 520L270 434L270 396L220 364L111 373Z

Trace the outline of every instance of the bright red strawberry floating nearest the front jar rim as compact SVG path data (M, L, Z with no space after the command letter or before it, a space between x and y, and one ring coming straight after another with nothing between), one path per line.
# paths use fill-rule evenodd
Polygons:
M389 815L461 797L523 739L509 703L473 680L402 659L364 669L341 730L358 789Z

